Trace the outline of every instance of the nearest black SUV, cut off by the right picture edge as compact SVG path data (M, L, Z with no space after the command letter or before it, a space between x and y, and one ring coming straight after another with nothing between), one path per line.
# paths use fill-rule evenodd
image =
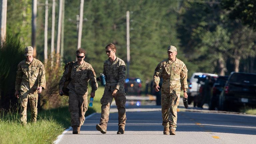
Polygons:
M256 74L232 72L219 96L219 110L256 106Z

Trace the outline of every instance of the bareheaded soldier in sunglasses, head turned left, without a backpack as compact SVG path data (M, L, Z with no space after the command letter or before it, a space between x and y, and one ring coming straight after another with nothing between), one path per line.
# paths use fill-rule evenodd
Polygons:
M106 79L106 86L104 94L100 100L101 106L101 118L100 123L96 125L96 129L101 133L107 132L107 123L109 120L109 109L110 105L115 99L117 110L118 110L118 131L117 134L124 134L125 128L125 102L126 95L124 91L124 80L125 80L125 63L120 58L116 57L116 46L112 43L106 46L106 53L109 57L104 62L103 74Z

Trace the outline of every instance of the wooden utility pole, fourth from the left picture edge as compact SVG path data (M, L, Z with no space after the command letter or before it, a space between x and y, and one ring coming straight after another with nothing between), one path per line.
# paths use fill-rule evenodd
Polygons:
M55 37L54 32L55 32L55 0L52 0L51 66L53 66L54 37Z

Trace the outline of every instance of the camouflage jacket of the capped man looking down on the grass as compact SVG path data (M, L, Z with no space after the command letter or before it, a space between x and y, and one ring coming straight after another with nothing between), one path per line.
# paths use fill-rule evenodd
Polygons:
M18 64L15 90L24 92L29 91L30 94L37 93L37 88L42 86L45 89L45 69L42 62L33 58L29 64L26 59Z

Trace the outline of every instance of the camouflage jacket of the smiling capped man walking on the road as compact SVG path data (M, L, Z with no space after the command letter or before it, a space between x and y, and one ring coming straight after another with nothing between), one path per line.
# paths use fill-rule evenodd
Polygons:
M173 63L169 59L163 60L155 69L153 86L159 85L162 77L162 93L172 93L172 90L180 91L180 88L187 89L187 73L186 65L178 58Z

